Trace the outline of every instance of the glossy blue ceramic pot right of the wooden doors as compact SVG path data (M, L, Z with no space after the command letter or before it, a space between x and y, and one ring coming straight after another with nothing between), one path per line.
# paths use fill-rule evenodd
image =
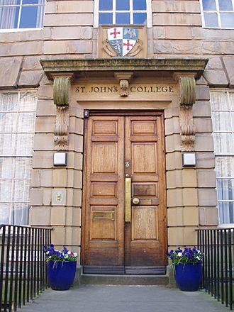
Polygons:
M202 279L201 263L177 264L175 266L174 278L180 290L198 290Z

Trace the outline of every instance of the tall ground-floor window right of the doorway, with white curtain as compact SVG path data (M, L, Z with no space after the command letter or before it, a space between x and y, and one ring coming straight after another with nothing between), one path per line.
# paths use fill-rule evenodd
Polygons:
M234 223L234 93L212 91L211 108L219 221Z

